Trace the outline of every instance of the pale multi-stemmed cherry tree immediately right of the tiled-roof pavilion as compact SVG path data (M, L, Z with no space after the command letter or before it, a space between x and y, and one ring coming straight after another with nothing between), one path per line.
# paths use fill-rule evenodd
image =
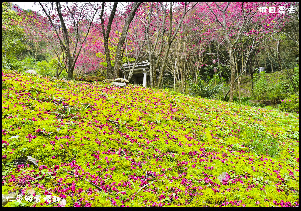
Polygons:
M139 20L144 25L147 48L150 60L151 87L160 87L169 49L174 41L186 13L193 8L187 2L179 3L151 3L144 4L144 10L138 11ZM173 17L175 11L180 11ZM166 40L164 36L166 35ZM163 53L163 55L162 55ZM159 77L157 69L160 64Z

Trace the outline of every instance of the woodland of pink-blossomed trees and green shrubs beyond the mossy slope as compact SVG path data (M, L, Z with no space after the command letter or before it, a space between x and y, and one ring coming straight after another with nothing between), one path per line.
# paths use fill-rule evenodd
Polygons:
M150 88L299 111L299 3L39 5L2 3L2 70L117 78L148 60Z

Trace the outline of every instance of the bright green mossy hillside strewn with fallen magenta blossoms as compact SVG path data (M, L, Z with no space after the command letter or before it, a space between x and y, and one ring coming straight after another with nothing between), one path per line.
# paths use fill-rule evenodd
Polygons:
M5 206L299 206L298 114L134 85L2 80L2 193L23 197Z

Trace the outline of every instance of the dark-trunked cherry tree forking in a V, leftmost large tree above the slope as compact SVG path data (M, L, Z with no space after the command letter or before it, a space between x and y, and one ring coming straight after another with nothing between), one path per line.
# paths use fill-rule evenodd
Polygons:
M66 3L63 7L60 2L56 2L55 6L54 3L39 2L39 4L66 53L68 78L73 79L74 67L98 11L98 3L95 6L91 3L73 3L72 5ZM82 23L86 23L84 24L86 27ZM61 34L57 29L57 24L61 26Z

